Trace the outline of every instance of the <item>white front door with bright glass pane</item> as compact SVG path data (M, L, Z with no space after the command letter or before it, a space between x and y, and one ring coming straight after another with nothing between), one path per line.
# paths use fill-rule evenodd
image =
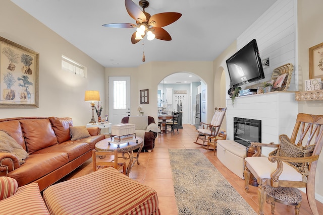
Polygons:
M109 77L109 122L113 125L121 122L130 111L130 77Z

